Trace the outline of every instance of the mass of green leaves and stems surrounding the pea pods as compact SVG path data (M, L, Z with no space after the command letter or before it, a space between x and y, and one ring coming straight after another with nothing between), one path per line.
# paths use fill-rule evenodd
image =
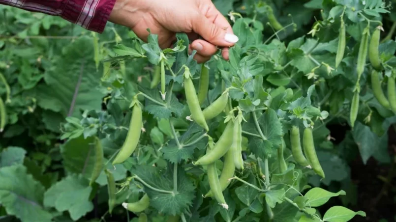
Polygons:
M143 42L128 28L110 23L103 34L91 33L60 18L0 6L0 97L6 110L0 132L0 220L121 222L137 221L143 213L152 222L170 217L183 222L366 217L348 209L360 208L353 206L357 191L348 164L355 155L364 164L371 157L391 163L388 128L396 117L372 92L368 59L362 75L356 64L363 30L372 33L379 25L388 30L385 21L396 21L395 9L382 0L213 2L240 40L230 48L228 61L219 52L206 63L209 92L201 108L226 90L229 95L226 109L207 121L208 132L189 120L183 74L189 70L198 90L201 65L193 59L195 51L188 54L191 40L185 33L177 33L172 48L161 49L152 33ZM346 47L335 68L341 19ZM378 47L381 84L396 72L396 42L393 33L386 34L390 37ZM159 64L165 67L164 98L159 85L151 88ZM354 92L360 100L352 127ZM113 166L135 98L143 109L139 143L125 162ZM235 170L222 192L227 209L204 197L211 189L207 166L194 162L218 141L237 111L243 113L244 169ZM351 126L336 143L332 124ZM311 148L324 179L295 162L292 126L312 128ZM95 138L104 163L90 185ZM285 171L277 155L283 141ZM227 170L223 163L224 157L215 160L218 175ZM115 190L106 172L114 177ZM144 194L149 207L126 216L123 203Z

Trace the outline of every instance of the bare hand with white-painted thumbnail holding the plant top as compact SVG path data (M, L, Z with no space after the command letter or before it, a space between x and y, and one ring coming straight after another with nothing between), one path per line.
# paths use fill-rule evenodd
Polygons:
M188 53L196 50L199 63L208 61L217 47L223 47L222 56L228 59L228 47L238 41L211 0L117 0L109 21L131 28L143 41L150 28L162 49L172 46L176 32L185 32L192 40Z

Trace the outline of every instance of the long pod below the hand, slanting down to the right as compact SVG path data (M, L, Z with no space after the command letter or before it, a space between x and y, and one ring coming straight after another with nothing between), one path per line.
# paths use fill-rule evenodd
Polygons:
M192 119L206 131L209 131L208 123L206 122L204 113L199 105L194 83L192 83L190 71L187 67L185 67L184 73L184 92Z

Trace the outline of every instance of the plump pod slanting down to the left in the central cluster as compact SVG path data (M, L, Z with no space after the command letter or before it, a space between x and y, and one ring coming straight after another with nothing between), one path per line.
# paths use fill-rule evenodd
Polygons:
M216 142L213 147L213 151L206 153L204 156L199 158L194 165L209 165L214 163L216 160L220 159L224 154L228 152L232 145L232 136L234 134L234 123L233 121L228 121L227 126L224 129L223 134L220 139Z

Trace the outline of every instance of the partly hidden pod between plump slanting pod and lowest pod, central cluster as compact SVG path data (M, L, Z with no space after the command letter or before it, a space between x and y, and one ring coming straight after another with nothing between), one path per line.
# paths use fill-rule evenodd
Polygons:
M223 169L221 170L221 174L219 178L221 191L224 191L231 183L231 181L228 181L228 179L234 177L234 173L235 173L234 155L233 155L233 151L229 149L228 152L224 155ZM212 197L212 196L213 196L212 190L210 190L205 195L205 197Z

